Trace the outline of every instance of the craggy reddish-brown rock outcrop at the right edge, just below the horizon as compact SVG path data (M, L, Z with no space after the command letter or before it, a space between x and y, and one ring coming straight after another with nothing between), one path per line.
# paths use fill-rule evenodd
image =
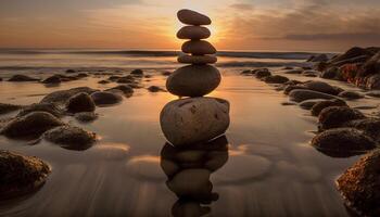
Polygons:
M318 60L320 77L355 84L359 88L380 90L380 48L354 47L328 60Z

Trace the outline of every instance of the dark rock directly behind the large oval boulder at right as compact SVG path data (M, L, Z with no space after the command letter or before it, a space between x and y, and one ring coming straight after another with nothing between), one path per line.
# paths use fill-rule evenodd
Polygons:
M347 106L329 106L324 108L319 116L319 130L338 128L354 119L366 118L358 110Z

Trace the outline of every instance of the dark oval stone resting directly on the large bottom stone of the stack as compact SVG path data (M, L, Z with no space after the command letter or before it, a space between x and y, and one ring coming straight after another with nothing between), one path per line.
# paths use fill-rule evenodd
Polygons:
M176 69L166 80L166 89L179 97L202 97L220 84L219 71L212 65L188 65Z

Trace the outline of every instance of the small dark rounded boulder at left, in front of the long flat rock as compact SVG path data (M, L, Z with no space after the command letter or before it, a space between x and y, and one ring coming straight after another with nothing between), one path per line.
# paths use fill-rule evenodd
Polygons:
M69 113L93 112L96 104L88 93L79 92L68 99L66 110Z

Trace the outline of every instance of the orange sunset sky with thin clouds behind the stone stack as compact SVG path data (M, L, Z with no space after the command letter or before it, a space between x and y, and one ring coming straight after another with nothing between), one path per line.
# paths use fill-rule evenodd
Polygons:
M1 48L179 49L179 9L211 16L218 50L380 46L379 0L1 0Z

